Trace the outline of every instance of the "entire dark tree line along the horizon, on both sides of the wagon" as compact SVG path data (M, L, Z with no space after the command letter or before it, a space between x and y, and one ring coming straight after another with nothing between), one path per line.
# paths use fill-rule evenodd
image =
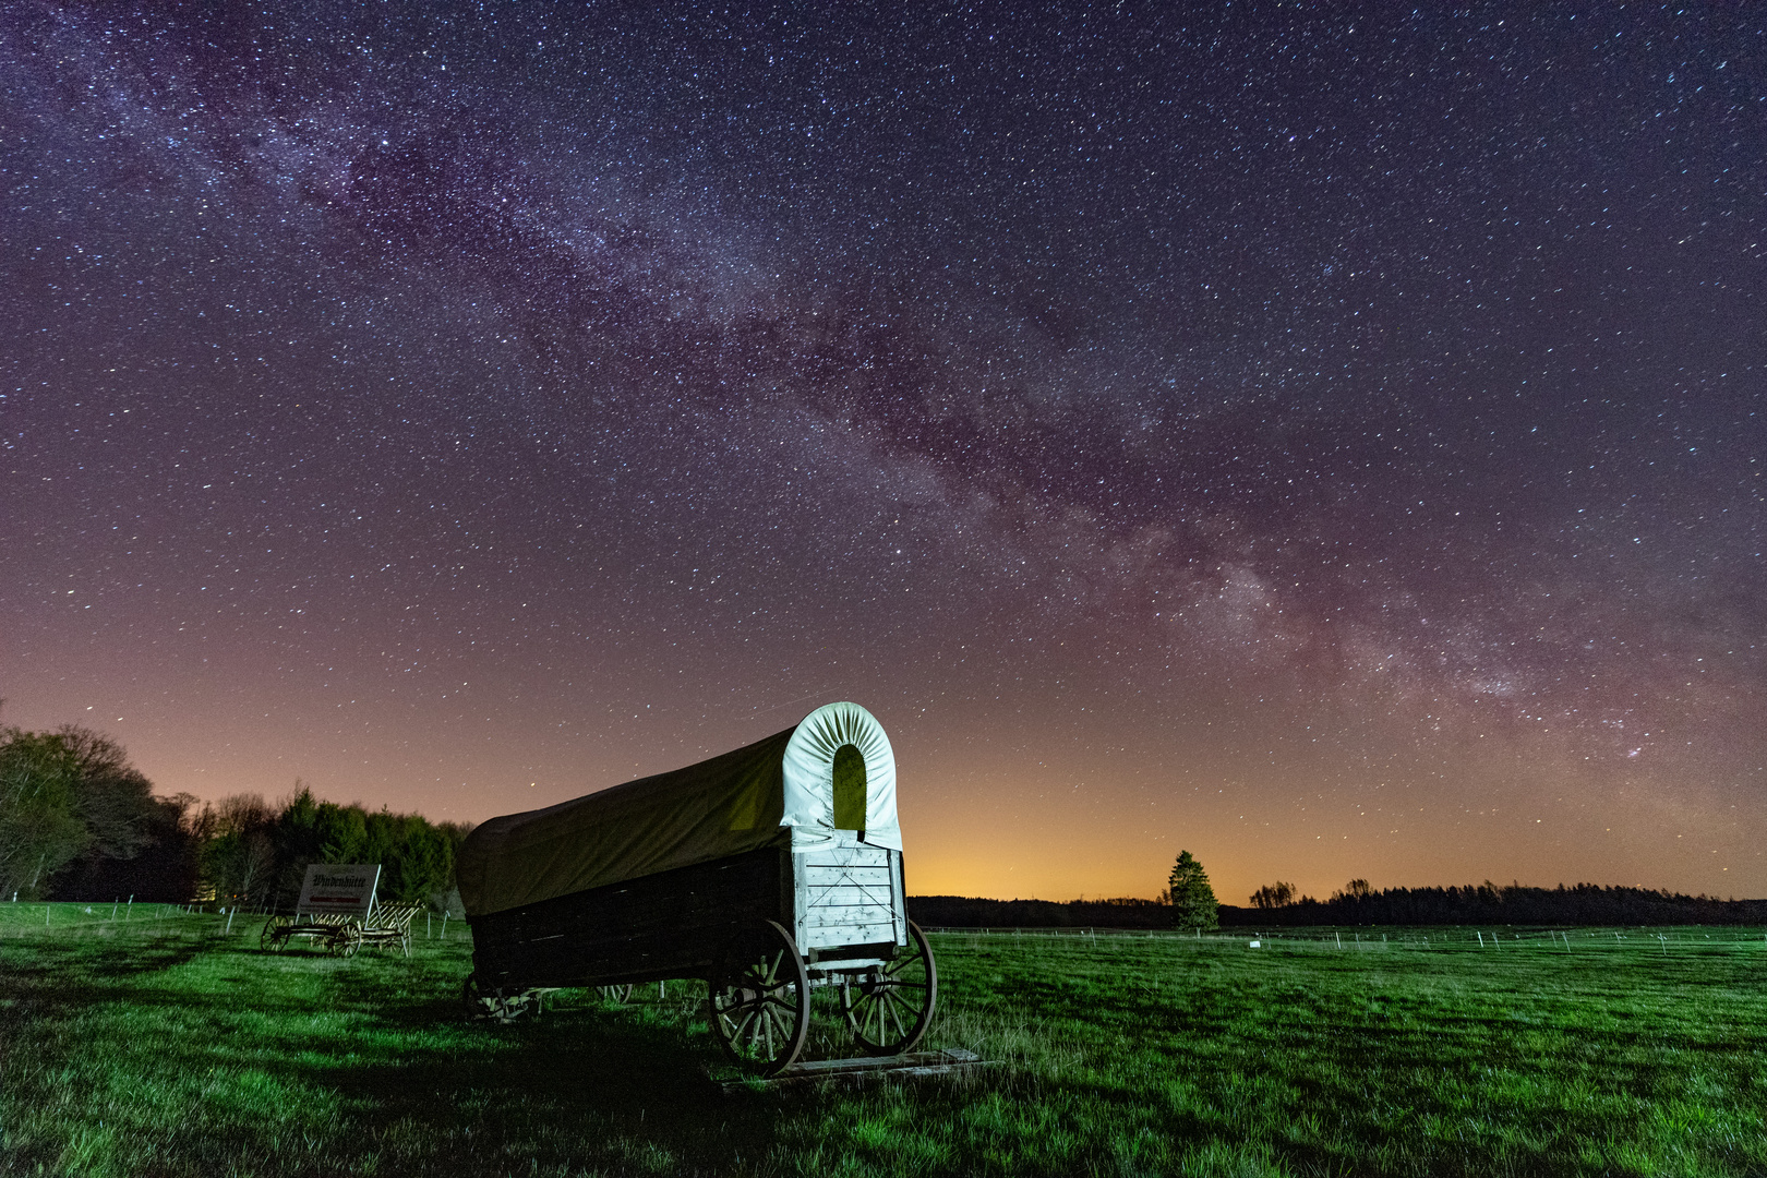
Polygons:
M0 899L115 899L290 906L307 864L382 864L385 899L458 908L454 858L470 830L421 814L322 802L295 782L277 804L233 795L198 804L155 797L117 742L85 728L0 728ZM1182 887L1180 887L1182 885ZM1184 917L1175 890L1210 913ZM1194 895L1191 895L1194 892ZM1668 925L1767 924L1767 899L1578 883L1385 888L1352 880L1331 899L1258 888L1251 908L1221 904L1202 864L1182 853L1161 899L997 901L910 895L928 927L1283 927L1283 925Z

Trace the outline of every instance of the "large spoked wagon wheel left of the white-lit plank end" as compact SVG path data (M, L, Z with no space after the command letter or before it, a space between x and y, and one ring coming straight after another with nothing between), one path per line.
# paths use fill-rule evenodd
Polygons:
M707 987L707 1017L742 1067L777 1076L809 1033L809 975L792 934L769 920L742 936Z

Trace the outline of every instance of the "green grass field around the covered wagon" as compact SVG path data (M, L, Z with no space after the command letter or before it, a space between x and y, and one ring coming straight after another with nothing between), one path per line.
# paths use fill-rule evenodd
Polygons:
M1758 929L935 934L933 1042L1000 1069L726 1097L694 984L489 1026L458 922L155 911L0 904L0 1173L1767 1174Z

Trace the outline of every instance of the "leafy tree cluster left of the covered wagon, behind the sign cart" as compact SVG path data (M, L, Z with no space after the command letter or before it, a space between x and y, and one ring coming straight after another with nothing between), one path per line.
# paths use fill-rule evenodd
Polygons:
M459 910L468 823L320 802L295 782L200 802L157 797L110 736L0 728L0 901L115 899L292 908L309 864L380 864L378 895Z

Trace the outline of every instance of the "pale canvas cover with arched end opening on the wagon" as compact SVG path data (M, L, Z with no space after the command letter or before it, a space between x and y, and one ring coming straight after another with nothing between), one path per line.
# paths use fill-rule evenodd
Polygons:
M486 917L838 830L901 850L896 754L857 703L829 703L735 752L542 811L493 818L459 853L466 915Z

